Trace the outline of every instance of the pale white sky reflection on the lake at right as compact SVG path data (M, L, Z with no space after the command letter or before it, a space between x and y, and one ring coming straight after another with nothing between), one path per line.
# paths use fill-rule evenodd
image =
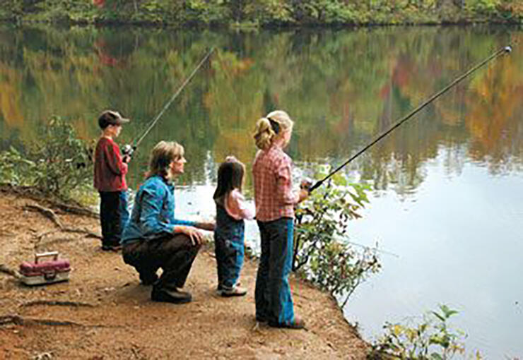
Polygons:
M486 359L521 357L523 251L519 223L520 175L496 176L466 163L457 176L445 173L445 155L428 165L416 201L372 197L351 236L400 254L382 256L383 271L354 294L345 309L365 337L384 319L403 321L438 304L452 304L454 328L466 330L468 349ZM361 320L365 318L365 320ZM505 357L507 356L507 357Z

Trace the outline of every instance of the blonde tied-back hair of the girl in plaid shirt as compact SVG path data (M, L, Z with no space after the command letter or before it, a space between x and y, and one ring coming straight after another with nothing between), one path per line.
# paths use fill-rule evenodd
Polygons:
M254 141L257 148L261 150L270 148L274 140L281 138L283 133L293 131L293 126L294 122L283 110L269 112L256 122Z

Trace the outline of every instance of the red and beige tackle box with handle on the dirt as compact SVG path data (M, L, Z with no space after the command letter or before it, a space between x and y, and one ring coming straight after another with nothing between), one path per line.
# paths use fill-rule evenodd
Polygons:
M42 261L42 258L52 260ZM35 262L24 261L20 264L20 281L26 285L52 284L69 280L71 264L68 259L59 259L58 251L36 253Z

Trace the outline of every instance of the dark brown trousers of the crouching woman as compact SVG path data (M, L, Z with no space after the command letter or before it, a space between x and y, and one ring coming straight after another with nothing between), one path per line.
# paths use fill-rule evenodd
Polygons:
M183 287L192 262L200 249L185 234L167 234L159 239L124 244L124 263L134 266L142 279L153 278L158 268L163 272L155 287Z

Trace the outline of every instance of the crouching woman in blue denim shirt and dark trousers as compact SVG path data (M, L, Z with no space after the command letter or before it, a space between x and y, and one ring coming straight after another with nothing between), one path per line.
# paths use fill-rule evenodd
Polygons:
M184 172L184 148L160 141L151 152L147 179L134 201L131 218L122 235L124 262L134 266L143 284L153 284L151 299L187 303L191 294L182 292L192 262L201 246L197 230L213 230L213 223L175 218L175 176ZM156 275L158 268L163 272Z

